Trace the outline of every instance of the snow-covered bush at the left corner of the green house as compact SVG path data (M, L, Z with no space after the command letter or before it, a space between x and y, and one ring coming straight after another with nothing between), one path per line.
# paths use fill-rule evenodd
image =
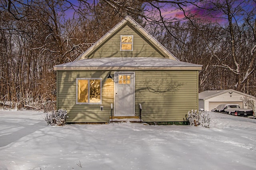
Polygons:
M63 126L68 119L68 113L63 109L54 110L51 113L47 113L44 120L46 121L47 125L58 125Z

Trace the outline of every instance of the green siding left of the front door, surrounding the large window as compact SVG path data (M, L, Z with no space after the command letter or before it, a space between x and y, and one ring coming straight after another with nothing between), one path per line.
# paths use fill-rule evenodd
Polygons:
M57 71L58 109L66 109L67 122L108 122L114 102L114 80L108 71ZM76 104L76 78L102 78L102 104ZM104 111L100 111L104 106Z

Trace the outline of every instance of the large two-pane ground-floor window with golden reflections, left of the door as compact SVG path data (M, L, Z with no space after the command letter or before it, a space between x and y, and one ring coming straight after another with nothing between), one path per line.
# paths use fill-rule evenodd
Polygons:
M101 78L76 78L76 104L101 104Z

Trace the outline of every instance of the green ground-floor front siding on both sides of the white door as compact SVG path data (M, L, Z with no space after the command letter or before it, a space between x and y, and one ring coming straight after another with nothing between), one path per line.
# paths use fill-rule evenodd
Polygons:
M106 79L108 73L57 72L57 106L67 110L67 122L109 121L110 104L114 104L114 80ZM76 78L102 78L102 104L76 104ZM136 115L138 104L142 104L145 122L185 121L188 111L198 108L198 71L135 71ZM104 106L104 111L100 111L100 106Z

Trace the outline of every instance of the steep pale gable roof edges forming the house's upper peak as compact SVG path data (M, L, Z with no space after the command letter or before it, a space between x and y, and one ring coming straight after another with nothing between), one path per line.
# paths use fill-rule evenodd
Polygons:
M104 43L108 37L110 37L114 32L118 31L122 28L122 26L126 23L130 23L139 33L141 33L144 37L148 39L148 41L160 52L164 53L169 59L179 61L170 51L168 51L162 44L160 44L152 35L150 35L143 27L141 27L136 21L134 21L130 16L126 16L122 21L120 21L116 26L114 26L110 31L108 31L103 37L101 37L94 45L92 45L89 49L87 49L82 55L80 55L74 61L79 61L82 59L86 59L86 56L93 53L94 50L98 48L102 43Z

